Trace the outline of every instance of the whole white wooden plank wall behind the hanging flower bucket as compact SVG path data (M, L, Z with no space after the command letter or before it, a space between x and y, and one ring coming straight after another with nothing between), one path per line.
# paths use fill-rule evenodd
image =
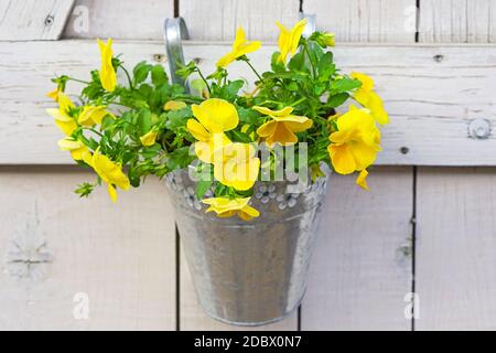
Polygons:
M57 150L44 94L54 73L98 66L95 38L166 64L174 14L188 58L213 67L241 24L268 43L262 65L273 21L300 8L336 33L345 69L375 76L392 118L370 193L332 176L305 300L265 329L496 329L496 137L468 136L496 124L496 0L0 0L0 329L236 329L198 308L160 182L117 205L72 193L90 175Z

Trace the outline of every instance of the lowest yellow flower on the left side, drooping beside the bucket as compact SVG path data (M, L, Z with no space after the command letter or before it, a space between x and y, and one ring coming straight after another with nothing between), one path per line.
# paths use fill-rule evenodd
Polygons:
M84 156L83 159L107 183L107 191L112 202L117 201L116 186L121 190L129 190L131 186L120 165L114 163L107 156L101 154L99 150L96 150L93 156Z

